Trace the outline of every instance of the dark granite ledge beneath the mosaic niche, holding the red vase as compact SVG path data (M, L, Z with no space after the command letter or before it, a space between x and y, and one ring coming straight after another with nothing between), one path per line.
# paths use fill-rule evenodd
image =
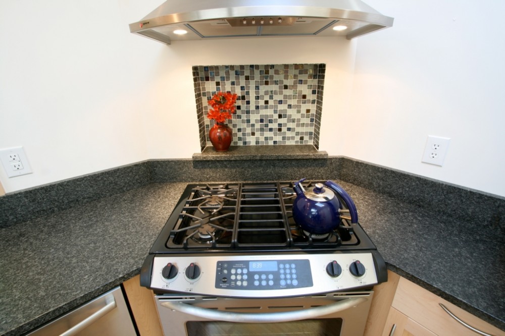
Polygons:
M207 146L201 153L194 153L193 160L251 160L251 159L326 159L328 153L319 151L313 145L264 145L231 146L226 152L217 152Z

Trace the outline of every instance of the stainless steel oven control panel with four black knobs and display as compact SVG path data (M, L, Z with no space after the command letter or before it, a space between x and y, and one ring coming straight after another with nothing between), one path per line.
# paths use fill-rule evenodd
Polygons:
M156 255L151 289L226 297L287 297L377 284L369 252Z

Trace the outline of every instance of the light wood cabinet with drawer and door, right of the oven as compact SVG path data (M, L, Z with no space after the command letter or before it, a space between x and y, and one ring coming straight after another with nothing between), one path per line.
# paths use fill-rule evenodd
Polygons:
M475 331L465 327L456 319L449 316L439 304L444 305L452 314L478 330L491 335L505 336L504 331L443 300L424 288L405 278L399 277L395 273L389 272L389 274L390 280L388 283L391 281L391 284L388 285L389 291L385 300L391 300L391 288L394 288L394 285L397 283L391 307L388 310L384 323L382 322L384 318L383 314L379 317L379 314L374 309L374 303L372 303L372 313L368 321L367 332L365 333L367 336L380 334L378 330L382 330L383 336L478 335ZM379 303L376 303L376 305L379 305ZM395 325L395 330L391 333L393 325Z

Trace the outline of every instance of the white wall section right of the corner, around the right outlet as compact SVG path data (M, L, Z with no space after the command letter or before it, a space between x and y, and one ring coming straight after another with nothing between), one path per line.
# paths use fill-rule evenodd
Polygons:
M505 196L505 2L366 2L394 25L358 42L331 152ZM428 135L451 138L443 167L421 162Z

